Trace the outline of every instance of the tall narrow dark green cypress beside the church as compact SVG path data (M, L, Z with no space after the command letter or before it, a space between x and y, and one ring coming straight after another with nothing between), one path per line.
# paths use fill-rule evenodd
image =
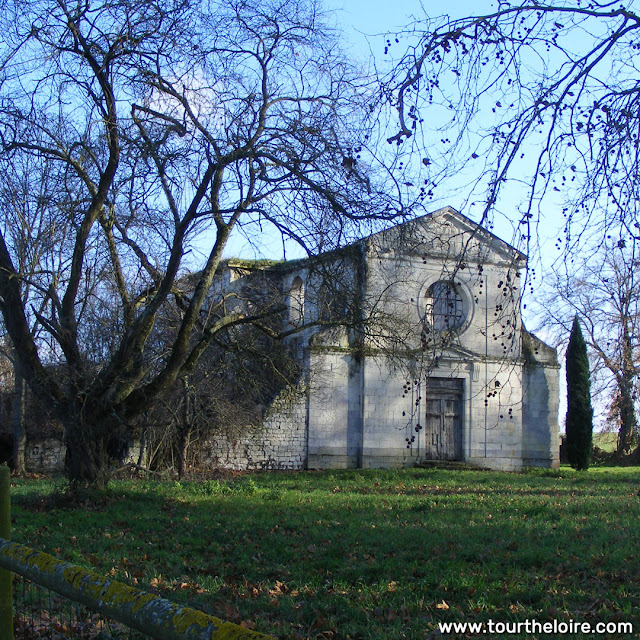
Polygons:
M589 468L592 450L593 409L587 345L578 316L573 319L567 347L567 458L578 470Z

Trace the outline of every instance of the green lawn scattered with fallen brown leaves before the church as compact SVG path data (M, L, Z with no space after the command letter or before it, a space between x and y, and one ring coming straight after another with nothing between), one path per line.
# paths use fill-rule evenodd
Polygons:
M114 481L73 505L51 480L17 479L13 538L279 638L418 640L489 618L630 621L638 637L639 481L260 473Z

